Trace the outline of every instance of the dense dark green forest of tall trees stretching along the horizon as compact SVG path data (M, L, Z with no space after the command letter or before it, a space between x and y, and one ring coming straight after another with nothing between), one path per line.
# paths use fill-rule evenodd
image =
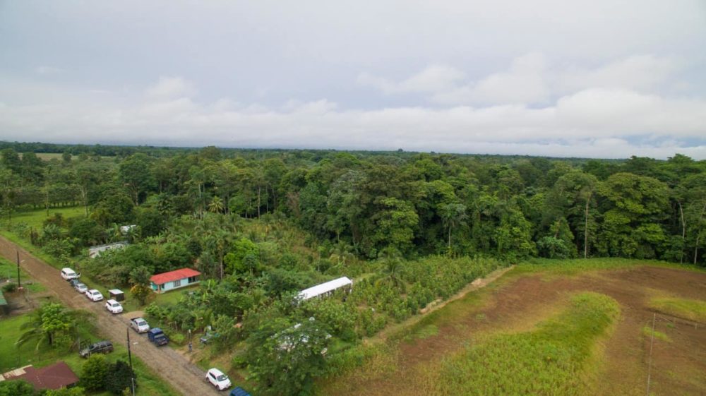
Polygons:
M2 210L82 205L156 236L205 212L277 215L358 258L385 248L510 261L659 258L703 265L706 163L321 150L3 143ZM8 147L11 146L11 147ZM26 150L18 152L16 149ZM63 155L41 160L36 152ZM78 153L78 155L76 155ZM97 243L107 236L83 236Z

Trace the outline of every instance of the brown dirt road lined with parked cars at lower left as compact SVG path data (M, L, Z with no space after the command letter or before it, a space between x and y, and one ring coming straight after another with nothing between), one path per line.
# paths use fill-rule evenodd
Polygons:
M124 315L111 315L104 308L104 301L91 302L83 294L77 293L65 280L61 279L59 270L35 258L20 246L13 244L0 236L0 254L16 261L16 252L20 252L20 266L37 282L40 282L56 297L74 309L85 309L95 313L95 325L98 330L114 343L126 342L128 318ZM159 376L167 380L182 395L222 395L210 383L205 382L205 372L190 364L177 352L169 347L157 348L150 344L146 335L138 335L131 330L130 340L132 352L152 368ZM169 395L160 395L169 396Z

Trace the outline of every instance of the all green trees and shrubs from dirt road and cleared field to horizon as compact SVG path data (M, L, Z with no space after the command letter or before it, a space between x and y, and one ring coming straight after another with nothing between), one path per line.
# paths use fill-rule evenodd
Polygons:
M678 154L0 148L5 236L104 294L123 289L126 310L144 311L173 347L208 334L199 364L225 362L263 394L309 392L313 376L378 356L361 345L511 264L566 275L628 259L706 264L706 162ZM88 258L116 241L128 246ZM150 292L151 275L179 268L201 284ZM342 276L352 291L292 303ZM294 359L280 337L311 341ZM285 362L301 381L275 375Z

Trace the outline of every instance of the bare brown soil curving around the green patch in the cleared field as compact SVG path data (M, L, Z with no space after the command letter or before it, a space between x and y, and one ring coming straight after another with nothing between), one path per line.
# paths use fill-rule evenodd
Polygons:
M650 266L627 270L585 272L574 277L517 275L480 291L481 304L449 311L438 335L400 344L395 373L333 385L338 395L419 395L420 371L438 359L494 332L527 331L561 311L568 296L591 291L607 294L621 306L611 336L603 342L602 371L596 396L645 395L650 337L642 328L652 326L671 342L655 340L652 348L652 395L706 395L706 323L694 323L656 313L647 307L652 296L706 300L706 274ZM465 304L464 301L459 301ZM331 385L331 384L330 384ZM328 388L328 387L327 387Z

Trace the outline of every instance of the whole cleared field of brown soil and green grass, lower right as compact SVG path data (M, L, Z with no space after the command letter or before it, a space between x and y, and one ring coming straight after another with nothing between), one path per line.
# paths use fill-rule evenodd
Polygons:
M319 394L645 395L656 318L650 393L703 395L705 301L705 272L624 260L520 265L322 381Z

